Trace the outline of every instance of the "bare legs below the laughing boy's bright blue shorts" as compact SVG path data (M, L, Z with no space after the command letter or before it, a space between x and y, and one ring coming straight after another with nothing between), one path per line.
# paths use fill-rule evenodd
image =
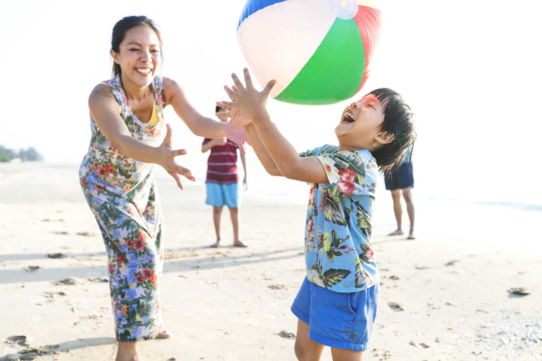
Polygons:
M320 361L324 345L308 338L308 324L298 319L298 333L295 336L295 357L299 361ZM364 351L335 349L331 347L333 361L363 361Z

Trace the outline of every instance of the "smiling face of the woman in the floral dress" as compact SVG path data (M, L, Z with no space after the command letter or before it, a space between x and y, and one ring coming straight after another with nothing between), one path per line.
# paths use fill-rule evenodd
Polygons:
M119 52L111 50L111 55L114 62L120 65L122 77L141 87L149 86L162 60L158 36L145 25L126 31Z

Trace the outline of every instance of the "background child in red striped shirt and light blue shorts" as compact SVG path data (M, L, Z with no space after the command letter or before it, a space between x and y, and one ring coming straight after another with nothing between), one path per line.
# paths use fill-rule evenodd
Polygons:
M216 113L224 110L216 107ZM218 116L221 122L228 122L228 117ZM220 246L220 221L222 216L222 207L228 206L230 210L231 224L234 229L234 246L247 247L239 239L239 206L241 199L239 196L239 176L237 174L237 149L236 143L226 138L209 139L205 138L202 144L202 153L211 149L209 160L207 161L207 199L205 204L212 206L212 219L215 223L216 242L211 247ZM247 163L243 153L241 153L241 163L243 163L244 179L243 187L247 188Z

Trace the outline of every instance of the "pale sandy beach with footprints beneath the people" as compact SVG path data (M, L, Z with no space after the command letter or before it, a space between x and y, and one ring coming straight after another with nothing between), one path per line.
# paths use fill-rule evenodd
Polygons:
M158 180L162 305L173 337L140 343L141 355L295 360L289 307L306 274L305 207L245 197L241 235L249 247L230 246L225 212L224 247L213 249L205 188L184 183L181 192L172 179ZM475 221L458 215L450 227L460 232L461 222ZM542 248L516 247L513 230L503 217L503 246L376 229L382 293L365 359L542 360ZM0 242L0 359L113 360L105 247L77 168L0 163Z

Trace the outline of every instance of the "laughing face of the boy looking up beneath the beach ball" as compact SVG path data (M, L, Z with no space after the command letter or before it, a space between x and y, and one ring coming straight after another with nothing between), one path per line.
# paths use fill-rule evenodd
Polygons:
M335 128L339 146L374 150L383 121L383 106L375 95L369 94L351 103L344 109Z

